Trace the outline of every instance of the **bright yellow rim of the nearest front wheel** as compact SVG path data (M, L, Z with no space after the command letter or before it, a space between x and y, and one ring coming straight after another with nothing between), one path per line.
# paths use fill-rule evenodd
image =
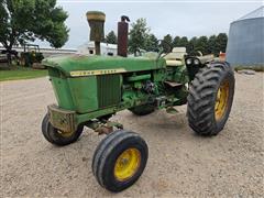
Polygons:
M140 151L136 148L125 150L116 161L114 177L120 182L131 178L138 172L140 164Z

